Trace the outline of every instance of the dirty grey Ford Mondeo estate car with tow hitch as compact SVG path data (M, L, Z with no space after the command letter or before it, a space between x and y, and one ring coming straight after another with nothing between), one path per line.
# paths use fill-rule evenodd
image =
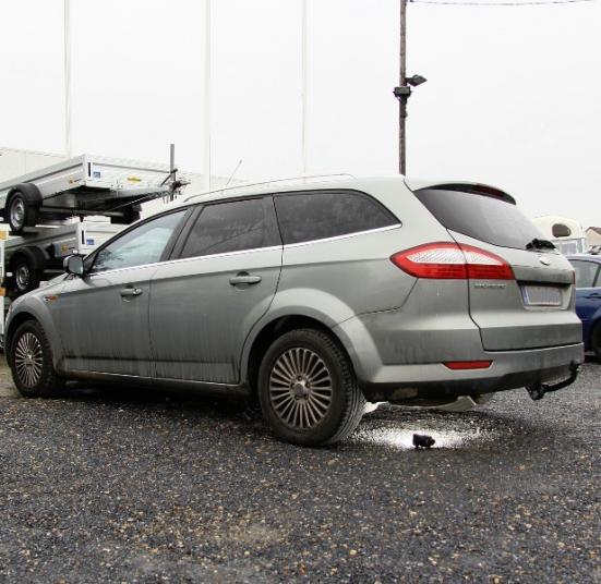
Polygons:
M243 394L298 445L349 436L365 401L540 397L584 358L572 266L481 184L338 178L190 196L65 271L12 304L24 396L67 379Z

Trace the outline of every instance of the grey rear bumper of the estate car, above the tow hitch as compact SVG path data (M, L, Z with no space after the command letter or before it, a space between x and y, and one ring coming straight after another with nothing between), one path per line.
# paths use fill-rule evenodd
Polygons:
M570 364L584 362L584 344L520 351L483 351L480 344L467 343L473 361L492 361L486 369L452 370L443 361L448 354L426 363L383 363L376 344L363 323L352 318L336 327L349 351L359 384L371 401L395 401L412 398L443 398L491 393L544 384L570 375ZM461 336L459 334L458 339ZM455 350L461 351L461 341ZM461 357L457 356L457 360ZM435 361L435 362L434 362Z

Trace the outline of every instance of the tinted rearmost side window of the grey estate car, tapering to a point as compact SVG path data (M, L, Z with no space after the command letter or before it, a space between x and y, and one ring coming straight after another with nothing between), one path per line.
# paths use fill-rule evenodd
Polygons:
M285 244L323 240L398 224L375 199L354 191L279 194L277 219Z

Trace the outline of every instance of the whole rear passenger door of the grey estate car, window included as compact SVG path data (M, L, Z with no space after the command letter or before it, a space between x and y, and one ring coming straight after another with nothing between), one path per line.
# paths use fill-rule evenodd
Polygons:
M244 340L267 312L280 269L271 196L199 208L176 257L151 283L156 376L237 384Z

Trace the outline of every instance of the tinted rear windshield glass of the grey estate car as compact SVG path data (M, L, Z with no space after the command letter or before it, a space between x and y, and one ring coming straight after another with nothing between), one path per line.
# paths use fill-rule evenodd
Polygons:
M503 196L449 188L420 188L416 196L447 229L493 245L525 250L541 232Z

